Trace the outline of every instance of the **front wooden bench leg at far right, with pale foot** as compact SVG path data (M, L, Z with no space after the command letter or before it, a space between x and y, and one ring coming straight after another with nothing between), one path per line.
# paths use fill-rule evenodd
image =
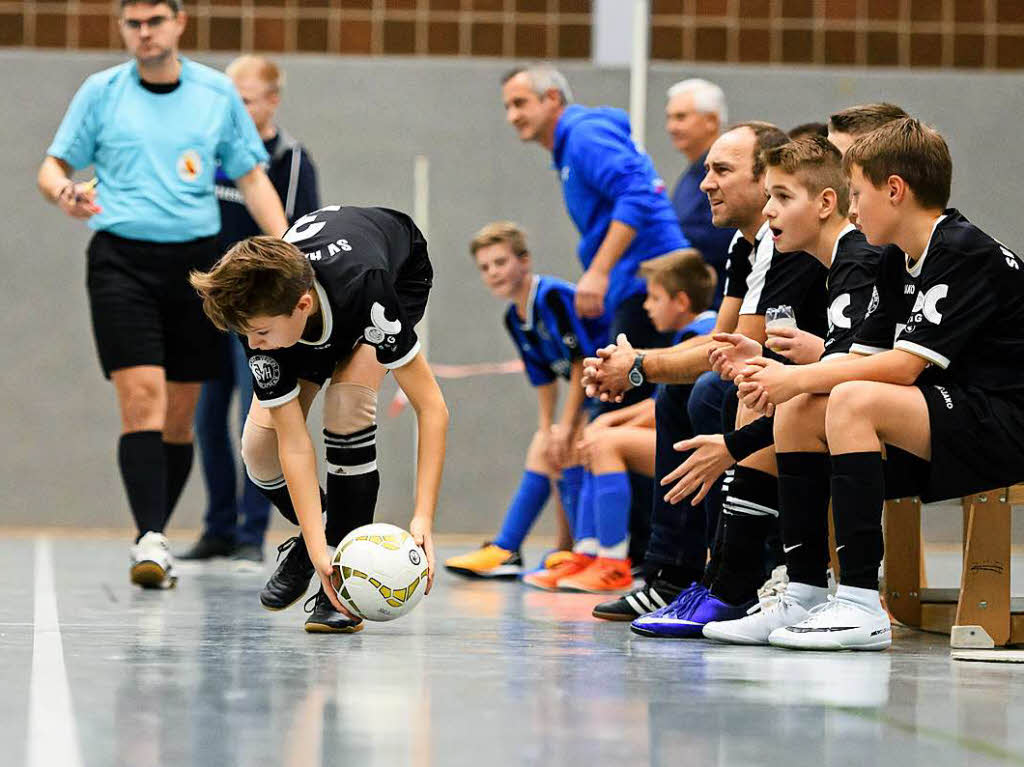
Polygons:
M952 647L1010 641L1010 527L1005 488L972 497Z

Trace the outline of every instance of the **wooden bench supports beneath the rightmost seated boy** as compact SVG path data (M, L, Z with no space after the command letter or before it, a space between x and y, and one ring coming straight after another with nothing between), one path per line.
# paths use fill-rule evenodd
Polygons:
M924 579L921 501L886 502L885 598L904 626L949 634L954 648L1024 643L1024 599L1010 594L1011 506L1024 484L962 500L964 570L959 589L929 589Z

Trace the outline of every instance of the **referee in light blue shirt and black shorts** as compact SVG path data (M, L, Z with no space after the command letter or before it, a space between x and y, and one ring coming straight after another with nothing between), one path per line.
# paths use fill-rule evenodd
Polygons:
M260 228L288 228L263 142L231 81L178 55L179 0L121 0L134 59L91 76L72 99L39 188L95 230L89 306L121 409L118 462L138 538L131 580L175 583L163 530L191 467L193 413L221 363L217 331L188 285L217 260L219 163ZM75 183L75 169L95 179Z

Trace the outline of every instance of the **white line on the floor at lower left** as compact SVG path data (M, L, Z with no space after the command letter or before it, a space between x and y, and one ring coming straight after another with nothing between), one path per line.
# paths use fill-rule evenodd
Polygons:
M53 551L49 539L36 539L36 623L29 691L28 767L82 767L78 727L65 670L57 620Z

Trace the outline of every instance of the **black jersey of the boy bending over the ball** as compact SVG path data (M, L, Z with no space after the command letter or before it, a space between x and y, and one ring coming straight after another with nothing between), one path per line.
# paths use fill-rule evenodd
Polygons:
M246 345L260 404L273 408L295 398L300 378L326 380L360 343L373 346L389 369L416 356L420 342L413 327L422 316L430 266L426 242L409 216L331 205L302 216L283 239L313 267L322 323L316 338L288 348Z

